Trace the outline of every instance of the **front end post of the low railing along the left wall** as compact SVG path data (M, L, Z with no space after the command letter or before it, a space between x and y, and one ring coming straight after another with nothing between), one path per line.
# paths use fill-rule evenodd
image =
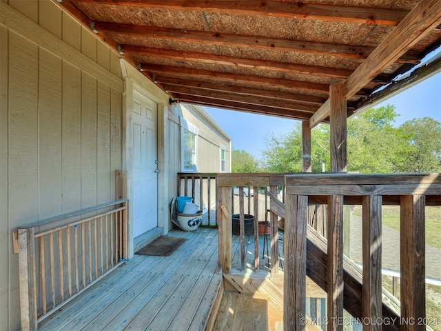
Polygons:
M37 330L34 228L19 229L18 234L21 330Z

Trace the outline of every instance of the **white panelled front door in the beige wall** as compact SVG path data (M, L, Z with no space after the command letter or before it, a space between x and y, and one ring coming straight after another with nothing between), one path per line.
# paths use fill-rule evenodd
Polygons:
M158 226L158 105L133 91L133 237Z

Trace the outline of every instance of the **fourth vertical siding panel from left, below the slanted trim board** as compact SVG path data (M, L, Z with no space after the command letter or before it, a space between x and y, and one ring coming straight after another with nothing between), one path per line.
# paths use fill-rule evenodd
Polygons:
M63 61L63 212L81 208L81 70Z

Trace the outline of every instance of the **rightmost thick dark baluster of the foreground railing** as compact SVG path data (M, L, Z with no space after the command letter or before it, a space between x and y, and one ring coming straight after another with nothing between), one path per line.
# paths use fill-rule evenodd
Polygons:
M401 330L426 330L425 205L425 196L400 199Z

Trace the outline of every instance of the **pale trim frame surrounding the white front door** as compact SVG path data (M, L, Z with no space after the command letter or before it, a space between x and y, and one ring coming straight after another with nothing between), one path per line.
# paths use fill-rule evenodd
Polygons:
M124 66L124 64L122 65ZM127 67L126 67L127 68ZM158 228L150 230L159 234L167 234L169 231L169 213L168 210L168 179L167 179L167 152L165 152L165 114L167 113L168 103L165 104L163 99L158 98L156 92L157 87L151 86L152 82L147 81L145 77L139 79L130 75L125 77L125 94L123 101L124 115L123 116L123 169L127 171L127 199L129 199L129 257L134 255L134 237L133 237L133 215L130 212L130 200L133 198L133 91L137 90L145 97L151 99L158 104L157 116L157 152L158 152ZM162 91L161 91L162 92ZM167 100L168 101L168 100ZM148 233L148 232L147 232ZM156 236L157 237L157 236Z

